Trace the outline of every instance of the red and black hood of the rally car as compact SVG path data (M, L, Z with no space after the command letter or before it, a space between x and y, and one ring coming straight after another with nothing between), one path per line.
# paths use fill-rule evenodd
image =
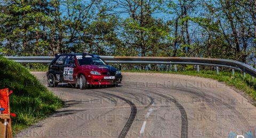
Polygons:
M100 72L117 71L117 68L110 65L83 65L83 68Z

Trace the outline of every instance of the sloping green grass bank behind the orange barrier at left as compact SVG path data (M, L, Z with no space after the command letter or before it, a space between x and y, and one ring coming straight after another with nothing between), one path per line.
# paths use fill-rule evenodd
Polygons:
M9 88L13 134L47 117L63 106L63 101L47 90L27 68L0 57L0 89Z

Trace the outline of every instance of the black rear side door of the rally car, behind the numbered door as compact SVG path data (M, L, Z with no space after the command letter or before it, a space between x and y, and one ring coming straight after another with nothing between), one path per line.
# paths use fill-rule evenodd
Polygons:
M56 62L53 64L52 68L54 68L54 73L56 75L57 81L63 81L63 64L66 56L59 56Z

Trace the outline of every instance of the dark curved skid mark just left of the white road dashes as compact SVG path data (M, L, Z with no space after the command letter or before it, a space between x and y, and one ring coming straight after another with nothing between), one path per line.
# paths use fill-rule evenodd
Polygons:
M132 123L133 123L133 120L135 119L136 117L136 114L137 114L137 107L134 105L133 102L131 102L130 100L127 100L123 97L120 97L120 96L117 96L115 94L111 94L111 93L106 93L106 92L102 92L102 91L94 91L94 92L100 92L100 93L103 93L103 94L107 94L109 96L113 96L113 97L116 97L116 98L119 98L121 100L124 100L125 102L127 102L130 106L131 106L131 113L130 113L130 116L127 120L127 122L125 123L124 127L123 127L123 130L121 131L121 133L118 135L118 138L124 138L126 136L126 134L128 133Z

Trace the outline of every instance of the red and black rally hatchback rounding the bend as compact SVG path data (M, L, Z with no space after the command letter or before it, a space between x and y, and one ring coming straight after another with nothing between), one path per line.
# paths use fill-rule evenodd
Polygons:
M87 53L57 55L47 72L49 87L69 83L86 89L89 85L117 85L121 81L122 74L117 68L108 65L98 55Z

